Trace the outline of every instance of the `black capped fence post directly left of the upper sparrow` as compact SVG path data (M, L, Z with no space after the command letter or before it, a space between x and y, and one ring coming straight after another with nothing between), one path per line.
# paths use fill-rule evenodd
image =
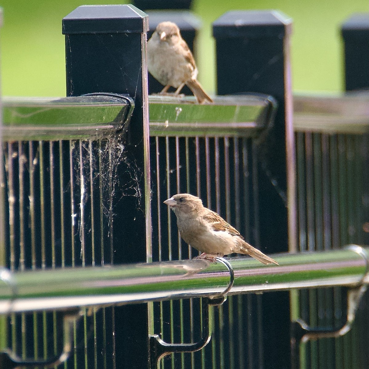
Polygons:
M147 15L132 5L80 6L63 18L68 96L128 94L135 103L122 147L130 162L118 163L118 185L125 186L132 166L136 190L114 199L111 263L151 261ZM124 194L123 194L124 195ZM112 311L112 367L148 367L148 305ZM106 330L111 327L105 327ZM115 332L114 332L115 330ZM92 343L93 344L93 343ZM104 355L108 355L111 348ZM109 358L110 360L110 358Z

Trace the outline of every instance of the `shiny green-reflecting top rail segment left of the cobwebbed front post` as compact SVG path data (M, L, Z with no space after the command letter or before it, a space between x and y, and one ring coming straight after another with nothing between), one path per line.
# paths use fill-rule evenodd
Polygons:
M104 95L4 97L3 141L101 138L123 129L133 101Z

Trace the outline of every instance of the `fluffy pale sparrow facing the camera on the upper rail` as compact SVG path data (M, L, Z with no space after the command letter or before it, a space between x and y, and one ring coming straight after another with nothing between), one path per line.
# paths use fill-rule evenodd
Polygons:
M177 96L184 85L195 95L199 104L213 102L197 81L197 68L192 52L181 37L175 23L162 22L147 42L148 70L165 87L160 92L165 94L169 87L175 87Z

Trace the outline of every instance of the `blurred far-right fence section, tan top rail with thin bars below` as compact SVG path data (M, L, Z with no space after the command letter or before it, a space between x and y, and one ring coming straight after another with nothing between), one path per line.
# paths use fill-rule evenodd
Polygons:
M365 93L294 96L299 251L369 244L368 102ZM301 289L294 296L292 320L302 318L315 327L341 324L345 289ZM304 345L301 359L306 367L355 368L366 361L361 348L361 342L368 341L361 328L366 326L365 305L368 294L344 337Z

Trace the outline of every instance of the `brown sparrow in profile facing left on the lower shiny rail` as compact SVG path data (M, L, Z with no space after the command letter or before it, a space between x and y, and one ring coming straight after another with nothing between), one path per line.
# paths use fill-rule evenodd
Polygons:
M203 252L201 258L214 259L237 252L250 255L263 264L274 263L261 251L244 241L239 232L219 214L203 206L199 197L188 193L174 195L164 204L169 205L177 217L177 227L184 242Z

